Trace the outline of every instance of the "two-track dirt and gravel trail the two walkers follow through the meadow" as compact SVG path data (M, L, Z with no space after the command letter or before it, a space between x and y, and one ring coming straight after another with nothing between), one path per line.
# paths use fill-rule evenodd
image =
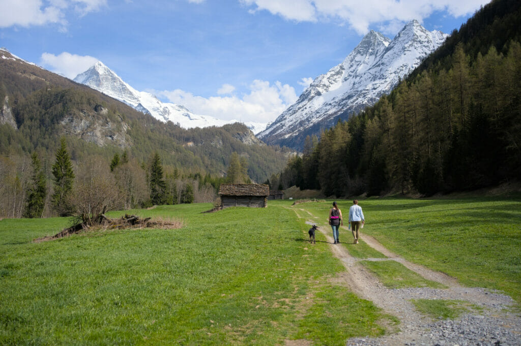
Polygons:
M386 311L387 313L398 317L401 321L399 326L400 332L395 334L389 334L381 338L355 338L348 340L348 345L487 345L494 343L487 343L487 341L483 341L482 343L473 343L476 332L474 329L472 332L468 332L464 330L467 326L463 326L460 331L457 328L460 326L453 327L453 330L457 330L454 333L457 336L450 336L448 330L440 329L441 327L436 327L432 324L432 320L421 315L414 308L411 303L411 299L445 299L445 300L464 300L468 301L476 306L483 308L478 313L473 313L474 315L478 314L480 318L487 321L492 321L490 318L493 317L494 321L497 320L497 324L500 327L513 325L511 329L508 329L504 333L510 333L513 336L511 339L516 340L516 336L519 337L518 340L521 340L521 332L519 329L521 327L521 318L518 315L504 312L505 309L514 305L514 301L505 296L504 294L492 293L486 289L482 288L470 288L463 287L458 284L456 279L440 273L430 270L427 267L411 263L393 252L389 251L387 248L383 247L375 238L362 234L361 241L365 241L367 245L374 248L375 250L381 252L386 255L388 261L396 261L403 264L408 269L418 273L420 276L436 281L442 285L445 285L446 289L433 289L433 288L407 288L407 289L389 289L386 288L372 273L370 273L366 268L358 261L358 259L352 257L345 244L334 245L332 232L329 225L325 223L319 223L316 219L318 217L309 213L304 209L300 209L299 211L304 211L308 214L309 217L306 217L308 224L317 224L319 225L320 232L326 237L327 241L330 243L329 247L334 254L335 257L340 259L343 263L346 271L340 273L338 280L342 283L348 285L354 293L356 293L359 297L372 301L375 305ZM313 220L314 219L314 220ZM341 233L344 235L349 234L349 236L343 236L344 239L350 239L351 232L346 229L341 229ZM368 259L364 259L368 260ZM369 259L371 260L371 259ZM382 260L382 259L374 259L374 260ZM337 280L337 281L338 281ZM481 320L480 320L481 321ZM492 321L492 322L494 322ZM489 322L489 323L492 323ZM457 323L457 322L456 322ZM495 323L495 322L494 322ZM494 327L498 329L500 327ZM436 329L440 330L436 330ZM445 328L445 327L443 327ZM456 328L456 329L454 329ZM472 326L468 326L468 328L473 328ZM478 329L483 329L479 328ZM479 332L479 330L478 330ZM453 333L453 334L454 334ZM465 335L468 334L467 341L465 340ZM463 335L463 337L461 337ZM446 336L446 338L445 338ZM442 339L445 338L446 342ZM452 339L451 339L452 338ZM459 339L458 339L459 338ZM463 338L463 339L462 339ZM474 338L474 339L473 339ZM482 339L485 337L481 337ZM511 340L508 339L508 340ZM452 340L452 341L451 341ZM463 340L457 341L454 340ZM489 340L490 341L490 340ZM496 340L497 341L497 340ZM521 344L519 343L496 343L498 345L507 345L507 344Z

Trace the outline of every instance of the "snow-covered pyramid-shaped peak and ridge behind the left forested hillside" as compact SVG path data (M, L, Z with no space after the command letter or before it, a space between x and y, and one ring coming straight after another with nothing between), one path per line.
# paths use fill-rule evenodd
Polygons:
M110 97L125 102L127 105L151 114L154 118L167 122L178 123L185 129L192 127L222 126L238 122L237 120L221 120L214 117L195 114L187 108L160 101L156 96L147 92L140 92L131 87L101 61L98 61L74 79L75 82L85 84ZM246 123L253 133L266 128L262 123Z

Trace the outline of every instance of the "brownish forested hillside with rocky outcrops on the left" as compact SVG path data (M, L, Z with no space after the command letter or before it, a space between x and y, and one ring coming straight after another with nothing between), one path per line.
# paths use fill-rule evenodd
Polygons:
M180 190L187 184L201 190L217 188L232 153L242 158L255 182L265 181L287 163L288 150L265 145L243 124L185 130L6 50L0 53L0 192L6 196L0 201L0 216L23 213L32 153L38 154L48 192L52 192L51 166L62 138L76 173L93 162L108 170L115 156L125 154L133 180L144 181L146 168L158 153L165 178L170 180L170 202L175 202L176 194L177 201L181 200ZM146 191L140 194L141 201L145 195ZM206 201L215 197L215 193L203 195Z

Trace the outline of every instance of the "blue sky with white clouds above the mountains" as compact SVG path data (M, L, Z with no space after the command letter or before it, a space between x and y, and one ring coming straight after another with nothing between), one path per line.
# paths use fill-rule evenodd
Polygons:
M0 0L0 46L74 78L101 60L162 100L272 121L370 29L450 33L484 0Z

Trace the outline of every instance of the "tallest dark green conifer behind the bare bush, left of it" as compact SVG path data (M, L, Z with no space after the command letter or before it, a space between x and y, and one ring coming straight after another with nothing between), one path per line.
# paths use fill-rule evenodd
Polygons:
M69 205L68 198L72 192L72 183L74 182L75 176L72 170L69 152L67 151L67 143L64 138L61 138L60 148L56 152L56 161L53 164L53 175L53 208L60 216L68 216L71 214L71 206Z

